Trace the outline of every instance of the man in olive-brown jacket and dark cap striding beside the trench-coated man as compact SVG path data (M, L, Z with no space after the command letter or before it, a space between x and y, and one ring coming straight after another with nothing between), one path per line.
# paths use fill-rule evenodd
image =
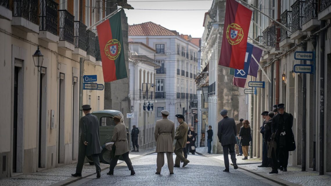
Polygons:
M182 167L184 167L190 162L182 154L183 148L185 148L187 143L188 125L185 122L185 118L182 114L177 114L176 118L179 123L179 126L176 129L176 135L175 135L176 142L174 142L175 144L174 153L176 155L174 167L180 167L180 160L183 161Z

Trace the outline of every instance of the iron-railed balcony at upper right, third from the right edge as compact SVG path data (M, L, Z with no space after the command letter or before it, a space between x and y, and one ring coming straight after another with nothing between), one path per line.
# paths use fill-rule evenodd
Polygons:
M291 39L299 39L304 35L302 32L302 24L304 23L304 5L305 1L297 0L291 6L292 8L292 33Z

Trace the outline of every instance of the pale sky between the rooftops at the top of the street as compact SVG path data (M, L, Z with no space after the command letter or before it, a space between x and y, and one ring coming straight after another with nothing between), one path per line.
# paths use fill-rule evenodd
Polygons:
M175 30L179 34L191 35L198 38L202 37L205 12L208 12L211 8L212 0L163 1L166 0L128 0L127 3L135 9L124 9L128 24L133 25L151 21L166 29Z

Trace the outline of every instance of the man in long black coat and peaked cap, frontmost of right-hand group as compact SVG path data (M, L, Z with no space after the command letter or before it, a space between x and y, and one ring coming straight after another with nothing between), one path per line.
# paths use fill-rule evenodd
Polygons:
M277 143L276 155L279 158L280 170L286 172L289 158L289 151L295 150L295 142L292 131L293 116L284 111L283 103L277 105L278 114L272 118L271 139ZM272 156L272 171L270 174L278 173L276 155Z

